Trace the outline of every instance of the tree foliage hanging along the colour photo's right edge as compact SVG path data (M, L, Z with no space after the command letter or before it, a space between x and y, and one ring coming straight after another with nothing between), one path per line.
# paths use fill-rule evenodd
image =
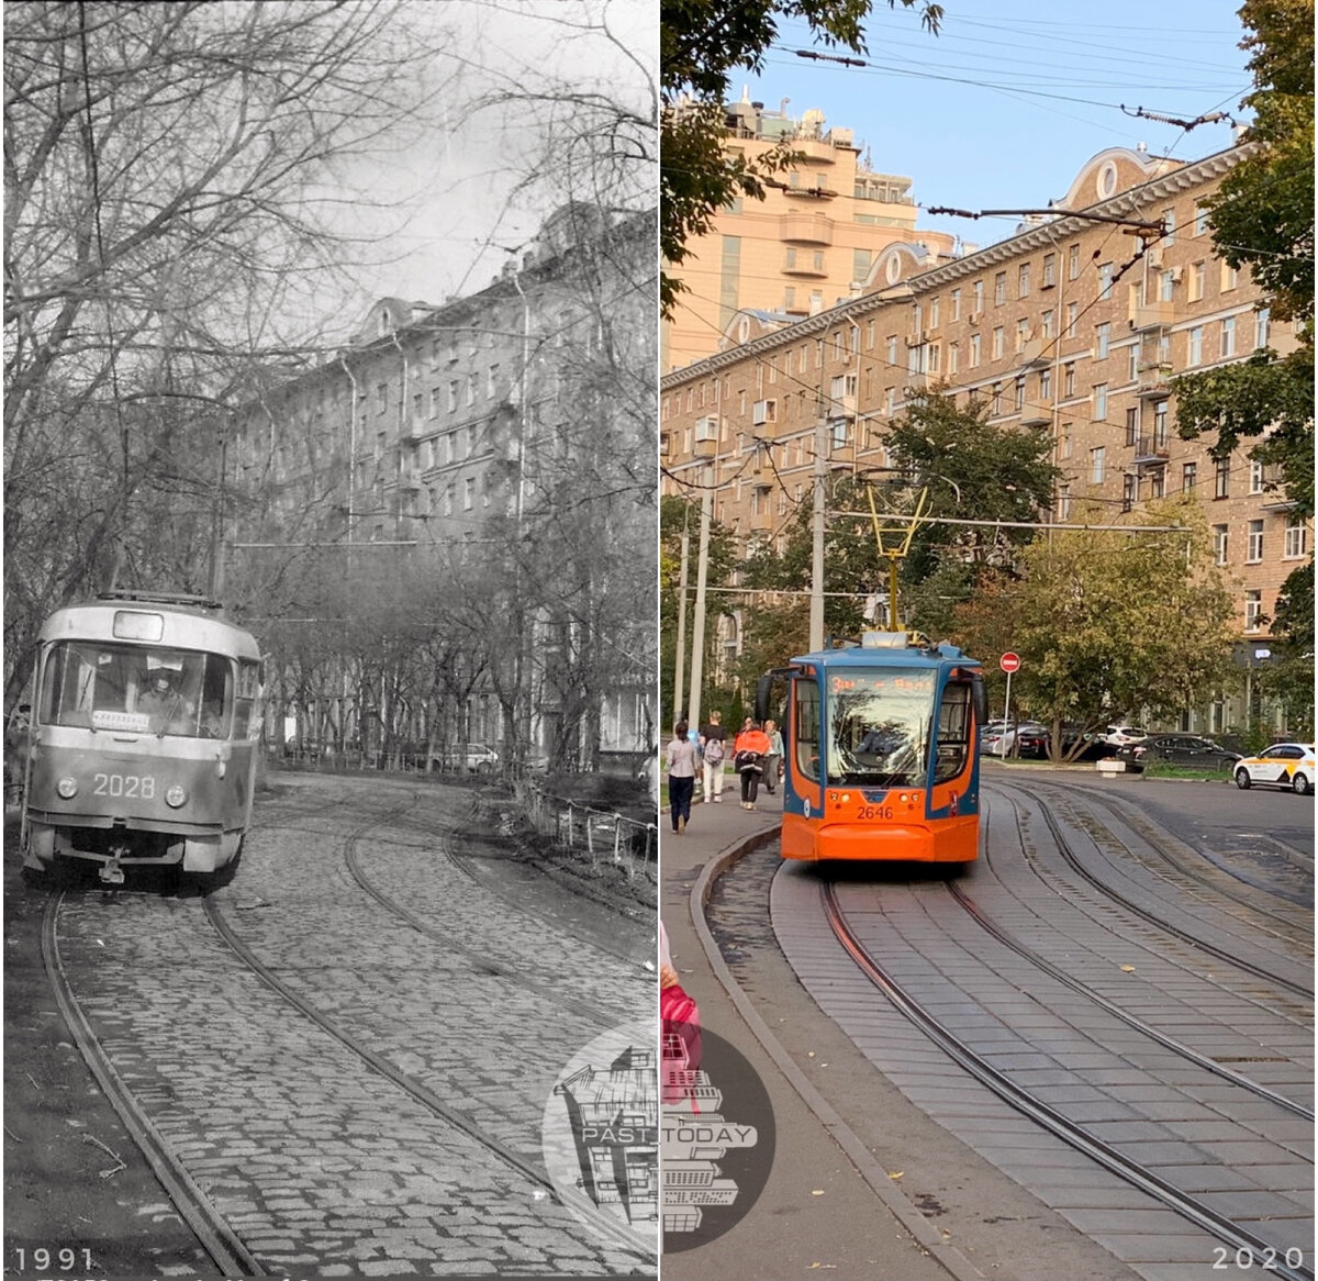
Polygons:
M1314 514L1314 3L1247 0L1255 113L1246 140L1255 149L1227 174L1210 203L1218 257L1248 268L1271 315L1296 326L1296 349L1264 349L1242 364L1188 374L1172 384L1184 438L1217 434L1210 453L1248 456L1276 467L1297 517ZM1263 688L1289 714L1313 724L1313 559L1285 581L1272 619L1276 664ZM1307 693L1304 691L1307 689Z

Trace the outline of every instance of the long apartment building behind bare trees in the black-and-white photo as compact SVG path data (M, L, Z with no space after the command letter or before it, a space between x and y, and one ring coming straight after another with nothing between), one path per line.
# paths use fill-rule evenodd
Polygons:
M635 510L614 505L610 546L648 555L654 515L629 469L654 456L656 244L654 212L565 206L486 287L442 304L382 298L343 349L270 374L231 447L231 486L245 498L232 506L235 563L316 555L360 569L374 557L387 576L427 557L484 557L500 575L515 557L543 581L556 571L534 565L535 548L559 514L593 510L598 492L629 484ZM606 615L597 601L592 617ZM655 643L612 639L635 654ZM572 721L594 738L583 758L648 749L648 671L619 676L598 705L565 705L580 684L567 668L585 643L571 612L536 623L536 745L547 750ZM468 702L471 738L497 745L507 726L490 683L477 681Z

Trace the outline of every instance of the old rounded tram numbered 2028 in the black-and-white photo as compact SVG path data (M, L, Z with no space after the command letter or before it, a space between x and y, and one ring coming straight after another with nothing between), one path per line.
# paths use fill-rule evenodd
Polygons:
M252 820L261 737L256 639L195 596L107 593L38 638L24 866L58 858L216 872Z

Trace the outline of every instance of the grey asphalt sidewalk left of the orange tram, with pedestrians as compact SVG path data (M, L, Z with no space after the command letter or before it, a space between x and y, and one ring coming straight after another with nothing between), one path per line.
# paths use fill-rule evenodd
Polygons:
M729 996L725 982L730 975L721 958L710 962L692 917L692 892L700 887L702 872L734 861L747 845L754 847L775 841L783 809L782 788L775 796L760 791L757 809L747 812L739 805L735 778L730 776L728 783L721 803L697 800L692 804L691 822L681 836L672 832L668 813L660 814L659 904L673 966L683 987L700 1007L702 1027L743 1054L768 1091L776 1149L768 1182L746 1216L705 1245L664 1255L664 1281L724 1277L778 1281L824 1268L833 1281L875 1281L879 1277L946 1281L949 1273L979 1276L975 1269L966 1268L956 1252L950 1252L952 1257L944 1253L937 1234L911 1210L900 1193L888 1186L876 1193L857 1173L853 1156L869 1160L871 1166L873 1157L863 1149L853 1156L844 1152L840 1141L845 1140L834 1139L826 1128L832 1110L816 1099L824 1107L821 1116L807 1104L793 1083L805 1085L803 1074L789 1062L775 1062ZM770 855L766 851L763 857ZM750 1017L758 1021L754 1012ZM760 1025L760 1031L766 1028ZM733 1103L728 1100L729 1106ZM873 1177L874 1170L870 1173ZM882 1172L879 1180L887 1183ZM921 1238L919 1241L909 1235L912 1227ZM941 1265L931 1252L942 1257ZM884 1264L878 1270L876 1255Z

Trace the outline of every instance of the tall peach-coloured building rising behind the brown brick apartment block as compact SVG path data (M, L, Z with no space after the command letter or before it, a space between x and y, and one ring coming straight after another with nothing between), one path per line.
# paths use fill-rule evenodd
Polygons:
M801 156L763 200L737 199L670 273L685 286L660 335L663 369L716 352L741 310L808 316L857 291L878 254L921 241L952 256L954 237L917 232L911 179L875 173L851 129L826 128L809 109L796 120L743 98L726 109L726 150L750 159L787 145Z

